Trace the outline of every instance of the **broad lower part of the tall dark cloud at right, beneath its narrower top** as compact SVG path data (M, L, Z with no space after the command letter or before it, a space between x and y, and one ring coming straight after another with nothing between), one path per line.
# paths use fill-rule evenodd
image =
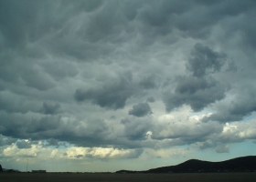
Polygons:
M191 106L194 111L225 97L226 86L223 86L212 77L179 77L175 92L165 92L163 100L166 111L170 112L184 104Z

